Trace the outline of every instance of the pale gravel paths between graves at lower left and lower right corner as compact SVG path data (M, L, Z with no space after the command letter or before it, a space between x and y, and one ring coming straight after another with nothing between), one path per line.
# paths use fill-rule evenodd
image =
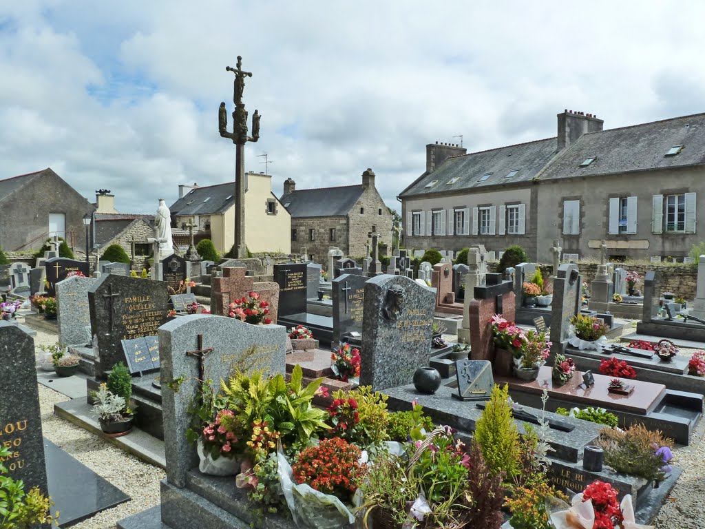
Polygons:
M35 345L56 341L56 335L37 331ZM132 499L93 518L74 525L75 529L108 529L131 514L159 504L159 481L164 470L143 463L100 437L82 430L71 422L54 415L54 403L68 397L39 384L44 436L61 446L98 475L111 482ZM684 469L670 497L654 523L658 529L705 528L705 421L701 421L691 446L674 450L673 463Z

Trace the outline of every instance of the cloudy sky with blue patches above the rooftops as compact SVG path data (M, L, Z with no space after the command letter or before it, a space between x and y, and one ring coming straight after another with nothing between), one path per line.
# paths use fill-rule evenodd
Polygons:
M606 128L705 111L704 19L697 0L4 0L0 179L50 166L121 212L232 181L217 110L239 54L262 114L247 170L266 153L281 195L372 167L397 207L430 142L548 138L563 109Z

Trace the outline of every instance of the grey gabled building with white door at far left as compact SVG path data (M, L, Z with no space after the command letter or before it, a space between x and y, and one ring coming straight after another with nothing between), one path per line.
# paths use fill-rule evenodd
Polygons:
M0 248L38 250L51 236L85 251L83 215L93 205L49 167L0 180Z

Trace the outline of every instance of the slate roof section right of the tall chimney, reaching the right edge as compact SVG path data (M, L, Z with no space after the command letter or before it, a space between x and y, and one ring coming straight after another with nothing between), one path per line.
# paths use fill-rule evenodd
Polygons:
M683 150L666 156L675 145L683 145ZM591 157L596 157L594 162L580 166ZM705 114L694 114L585 134L539 178L622 174L700 164L705 164Z

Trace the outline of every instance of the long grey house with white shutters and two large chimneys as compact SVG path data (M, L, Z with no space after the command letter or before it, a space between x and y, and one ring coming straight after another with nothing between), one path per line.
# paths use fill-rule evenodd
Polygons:
M427 145L424 174L400 193L405 245L451 256L484 243L518 244L550 262L687 256L705 239L705 114L603 130L592 114L558 114L558 135L467 154ZM704 200L705 197L701 198Z

